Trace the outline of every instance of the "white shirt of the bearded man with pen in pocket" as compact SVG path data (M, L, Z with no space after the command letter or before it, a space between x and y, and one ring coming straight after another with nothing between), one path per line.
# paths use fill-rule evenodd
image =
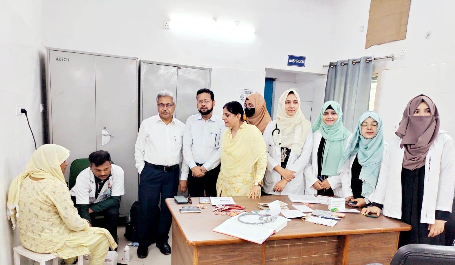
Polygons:
M189 168L203 163L207 171L216 168L220 162L221 134L226 130L222 119L212 115L205 121L201 114L188 117L183 134L183 160ZM187 180L188 169L182 168L182 180Z

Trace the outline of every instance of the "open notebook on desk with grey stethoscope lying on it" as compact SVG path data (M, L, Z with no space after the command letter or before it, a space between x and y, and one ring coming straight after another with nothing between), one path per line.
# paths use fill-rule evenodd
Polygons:
M272 234L275 234L279 230L283 229L287 225L288 221L290 221L290 219L278 215L278 219L273 223L265 223L263 225L243 224L237 220L238 216L227 219L222 224L215 227L212 231L248 240L256 244L262 244ZM255 217L257 219L257 216L254 215L248 216L248 218L245 217L245 221L253 221L248 219L253 219Z

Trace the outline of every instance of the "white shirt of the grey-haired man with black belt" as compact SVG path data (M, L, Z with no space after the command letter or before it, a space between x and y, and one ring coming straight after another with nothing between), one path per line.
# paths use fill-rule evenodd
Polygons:
M139 174L145 161L160 166L173 166L182 163L182 138L185 124L172 117L172 122L164 123L159 115L142 121L137 134L136 168ZM186 168L186 164L182 168Z

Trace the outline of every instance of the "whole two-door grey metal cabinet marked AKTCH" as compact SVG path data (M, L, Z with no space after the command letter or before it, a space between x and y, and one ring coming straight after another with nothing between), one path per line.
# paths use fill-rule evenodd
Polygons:
M93 151L108 151L125 172L120 214L127 214L138 184L137 58L48 48L47 67L50 142L70 150L70 165Z

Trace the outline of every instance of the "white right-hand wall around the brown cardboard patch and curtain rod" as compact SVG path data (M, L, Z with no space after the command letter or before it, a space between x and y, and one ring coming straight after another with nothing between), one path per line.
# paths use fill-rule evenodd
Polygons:
M365 47L369 1L337 1L332 26L330 60L359 56L394 54L395 60L380 60L376 67L385 67L381 82L378 112L384 120L386 140L401 119L407 102L426 94L436 103L441 116L441 129L455 137L455 122L450 119L450 107L455 97L451 76L455 71L455 24L452 10L455 1L411 1L406 39ZM353 15L355 14L355 15ZM363 32L359 31L364 26ZM425 33L431 31L429 39ZM404 48L406 55L399 56Z

